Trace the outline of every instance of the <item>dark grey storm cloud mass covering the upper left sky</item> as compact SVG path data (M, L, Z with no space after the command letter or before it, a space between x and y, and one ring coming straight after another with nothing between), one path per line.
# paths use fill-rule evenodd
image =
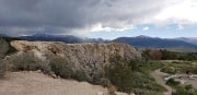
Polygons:
M139 24L165 0L0 0L0 33L69 33L102 24ZM43 29L34 29L43 28Z

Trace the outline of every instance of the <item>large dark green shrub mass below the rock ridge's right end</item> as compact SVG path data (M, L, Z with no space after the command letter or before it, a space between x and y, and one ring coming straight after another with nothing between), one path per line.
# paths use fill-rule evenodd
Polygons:
M111 64L106 67L106 78L120 92L135 92L137 95L144 95L147 91L164 92L163 86L155 83L150 74L143 73L139 60L126 60L119 56L111 58ZM137 63L137 64L132 64ZM134 69L134 67L136 69ZM132 68L131 68L132 67ZM139 91L140 90L140 91Z

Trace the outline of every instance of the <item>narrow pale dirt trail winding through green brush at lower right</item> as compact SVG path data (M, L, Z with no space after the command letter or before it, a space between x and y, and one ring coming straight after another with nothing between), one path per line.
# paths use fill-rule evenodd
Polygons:
M161 84L164 86L167 92L164 92L163 95L172 95L172 87L165 84L165 81L163 80L163 76L166 73L161 72L160 70L155 70L154 72L151 73L151 75L155 79L157 83Z

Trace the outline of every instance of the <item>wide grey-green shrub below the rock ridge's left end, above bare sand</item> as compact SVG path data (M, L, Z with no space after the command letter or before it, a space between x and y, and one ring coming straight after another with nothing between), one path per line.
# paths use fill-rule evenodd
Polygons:
M42 70L44 73L50 74L51 70L47 61L43 61L34 57L33 52L22 52L11 56L8 60L13 71L36 71Z

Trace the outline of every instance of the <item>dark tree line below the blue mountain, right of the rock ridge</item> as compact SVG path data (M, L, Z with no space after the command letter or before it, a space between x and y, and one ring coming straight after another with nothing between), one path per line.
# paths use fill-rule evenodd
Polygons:
M197 52L176 52L166 49L146 49L141 51L141 56L146 60L197 60Z

